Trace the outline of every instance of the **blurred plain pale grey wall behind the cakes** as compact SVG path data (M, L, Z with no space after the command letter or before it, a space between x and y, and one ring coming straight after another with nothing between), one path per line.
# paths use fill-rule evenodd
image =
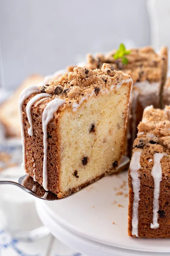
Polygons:
M150 44L146 2L1 0L1 85L16 87L31 73L54 73L120 42Z

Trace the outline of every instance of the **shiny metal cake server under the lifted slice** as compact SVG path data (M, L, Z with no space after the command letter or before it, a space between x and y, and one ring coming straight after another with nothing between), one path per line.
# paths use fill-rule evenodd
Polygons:
M114 170L114 173L127 168L129 162L130 162L130 160L128 157L122 156L122 158L120 160L120 164L117 167L117 169ZM54 193L52 193L50 191L45 191L45 189L37 181L34 181L34 179L31 176L29 176L28 174L20 177L18 182L14 182L14 181L10 181L10 180L0 180L0 185L1 184L15 185L15 186L19 187L20 189L23 189L23 191L25 191L37 198L43 199L43 200L55 201L55 200L64 199L64 198L58 198L57 195L55 195ZM91 183L91 184L93 184L93 183ZM89 184L88 186L90 186L91 184ZM83 187L82 189L84 189L86 187L87 186ZM68 195L65 198L68 198L68 197L76 194L77 192L81 191L82 189L79 189L78 191L73 192L71 195Z

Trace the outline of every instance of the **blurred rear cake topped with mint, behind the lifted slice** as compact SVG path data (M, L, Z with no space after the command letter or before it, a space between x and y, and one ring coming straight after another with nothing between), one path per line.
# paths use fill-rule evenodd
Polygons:
M127 154L131 156L137 125L142 120L144 108L148 105L161 108L162 90L167 77L167 48L162 47L159 53L151 47L130 49L126 52L128 52L128 55L125 55L126 62L121 58L114 58L116 50L106 55L88 54L83 66L93 70L101 69L103 63L109 63L113 70L122 70L133 79L127 130Z

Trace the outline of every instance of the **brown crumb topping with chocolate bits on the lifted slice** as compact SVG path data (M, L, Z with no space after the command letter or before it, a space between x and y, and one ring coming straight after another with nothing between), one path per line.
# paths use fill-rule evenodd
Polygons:
M48 84L40 87L40 92L79 104L82 97L84 99L92 93L98 96L100 92L107 91L111 87L116 88L116 85L127 80L132 82L129 75L113 70L111 65L106 63L102 65L101 70L74 67L73 71L65 73L57 81L50 80Z

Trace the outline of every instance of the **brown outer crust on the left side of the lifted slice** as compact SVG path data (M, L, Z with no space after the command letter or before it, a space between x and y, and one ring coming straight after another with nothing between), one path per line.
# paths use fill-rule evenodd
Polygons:
M37 108L35 104L31 107L31 117L33 120L33 136L28 135L28 118L26 115L26 105L28 101L34 97L31 95L23 103L23 122L25 132L25 158L26 172L34 177L42 186L42 168L43 168L43 137L42 137L42 113L48 101L42 102ZM48 123L48 154L47 154L47 169L48 169L48 188L51 188L55 194L59 192L58 170L60 166L60 155L58 150L59 137L57 132L58 119L54 118ZM52 152L52 153L51 153ZM54 157L54 154L56 157ZM37 160L38 159L38 160ZM35 169L35 170L34 170Z

